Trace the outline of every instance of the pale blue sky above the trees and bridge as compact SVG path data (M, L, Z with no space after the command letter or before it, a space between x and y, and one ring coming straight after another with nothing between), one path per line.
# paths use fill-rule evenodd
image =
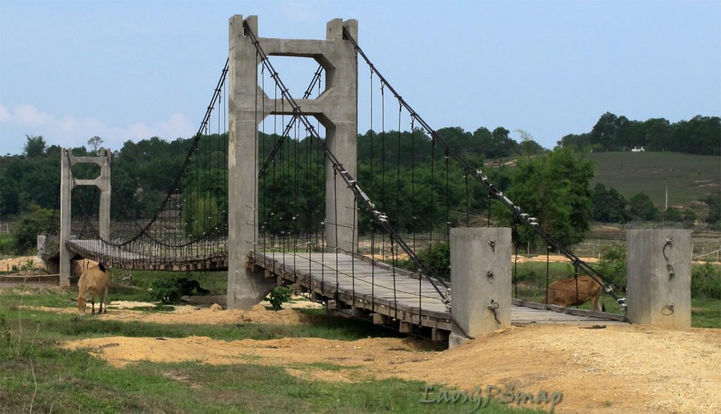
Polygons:
M26 134L111 149L193 136L233 14L257 14L267 38L324 38L328 20L358 19L361 48L434 128L522 129L552 148L606 111L721 115L718 0L0 0L0 154L22 153ZM306 84L306 66L280 76Z

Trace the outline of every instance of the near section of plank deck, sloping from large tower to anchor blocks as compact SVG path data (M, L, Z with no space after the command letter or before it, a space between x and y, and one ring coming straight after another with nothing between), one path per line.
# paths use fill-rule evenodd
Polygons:
M376 261L373 265L367 257L341 253L252 252L249 265L255 270L264 269L267 277L280 277L302 286L315 299L330 301L336 309L356 317L368 317L377 324L394 325L401 332L443 340L451 330L451 315L429 281L419 280L417 275L385 263ZM446 291L440 283L436 286L441 292ZM561 312L554 312L519 304L526 303L516 301L512 307L513 325L624 323L614 315L601 312L567 309L572 313L566 313L560 308Z

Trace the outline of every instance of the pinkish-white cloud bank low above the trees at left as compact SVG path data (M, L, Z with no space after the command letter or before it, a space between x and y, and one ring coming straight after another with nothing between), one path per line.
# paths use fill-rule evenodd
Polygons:
M109 125L90 116L45 113L31 104L14 105L12 110L0 105L0 122L3 124L3 146L8 147L3 151L18 154L22 148L12 148L13 137L22 137L24 134L42 135L49 145L64 147L85 146L89 138L99 136L105 141L105 147L115 150L120 149L125 141L140 141L152 136L167 140L191 138L197 128L182 113L172 113L166 119L153 123Z

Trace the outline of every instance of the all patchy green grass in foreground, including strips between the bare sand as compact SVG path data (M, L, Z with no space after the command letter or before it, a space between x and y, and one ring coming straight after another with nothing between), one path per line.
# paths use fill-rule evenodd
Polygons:
M114 300L146 300L144 286L156 276L159 273L133 272L140 286L114 287L110 296ZM194 273L192 277L213 293L225 289L224 276L219 273ZM248 364L222 366L141 362L116 368L87 351L68 351L58 344L107 336L358 340L399 334L363 321L327 317L322 309L304 310L318 319L311 325L164 325L21 307L71 307L70 298L74 294L74 289L39 290L32 286L0 294L0 413L447 413L449 409L473 408L471 403L452 406L421 403L428 385L423 382L301 379L291 376L283 367L252 364L252 358ZM429 346L433 347L430 343ZM291 368L349 369L335 364L293 364ZM494 401L485 410L536 412Z

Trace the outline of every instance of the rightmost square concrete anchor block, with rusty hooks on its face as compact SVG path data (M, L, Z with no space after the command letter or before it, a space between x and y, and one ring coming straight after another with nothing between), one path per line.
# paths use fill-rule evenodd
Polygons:
M627 240L629 320L691 327L691 230L629 230Z

